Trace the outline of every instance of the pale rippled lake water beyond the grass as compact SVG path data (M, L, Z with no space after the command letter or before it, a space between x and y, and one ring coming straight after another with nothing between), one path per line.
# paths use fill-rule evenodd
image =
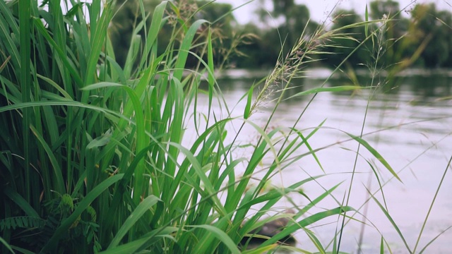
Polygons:
M218 80L232 116L243 114L246 103L240 99L259 75L262 74L230 71L226 73L225 78ZM315 69L307 75L308 78L295 80L293 84L295 88L288 91L289 95L319 87L328 77L329 71ZM452 226L452 169L448 167L448 160L452 155L452 73L409 71L405 75L407 76L400 78L400 82L395 87L388 89L385 93L376 92L370 100L369 93L374 90L359 90L353 93L321 92L316 95L296 128L309 133L326 120L323 128L309 139L313 149L332 145L316 152L325 173L312 156L307 156L272 179L271 183L275 186L289 186L291 183L307 179L309 175L325 174L326 176L319 179L317 183L312 182L303 187L311 199L323 193L323 188L331 188L343 181L333 192L334 198L332 196L326 198L310 212L338 207L335 199L342 202L348 194L358 149L358 143L349 140L350 137L344 132L359 135L363 128L364 116L366 116L363 138L391 164L403 182L394 179L370 152L362 146L359 147L356 174L348 205L354 207L360 214L349 212L347 215L362 220L364 214L367 217L365 221L369 225L362 229L362 223L346 220L341 251L357 253L357 243L362 233L362 253L377 253L381 236L386 239L393 253L409 253L396 229L376 202L370 200L365 205L366 200L369 199L366 188L371 193L375 193L375 198L383 204L382 193L378 192L379 183L369 163L374 165L379 174L389 214L398 225L411 250L420 235L422 224L445 171L444 181L416 252L418 253L429 241L441 234L441 231ZM364 86L370 85L371 82L369 77L364 76L359 77L359 80ZM383 78L381 80L377 78L376 82L378 81L383 83ZM326 87L336 85L350 85L350 80L332 78L326 83ZM292 127L307 107L311 97L312 95L308 95L283 101L273 116L270 128ZM200 97L201 106L198 110L206 111L206 99L206 96ZM269 97L251 117L251 120L261 127L265 125L275 105L271 99ZM366 115L367 105L369 107ZM213 111L217 116L226 115L225 108L220 108L218 104ZM237 131L237 128L230 126L230 135L233 136L234 131ZM252 143L257 137L258 133L253 128L244 128L238 142ZM302 152L307 152L305 147L300 151ZM292 195L291 198L300 207L308 202L301 195ZM281 202L280 206L293 207L288 201ZM319 237L323 246L329 245L328 250L331 250L331 241L340 223L338 217L331 217L310 229ZM297 247L310 251L316 250L303 231L300 230L295 237L298 241ZM385 250L388 252L388 248ZM436 238L425 252L450 253L451 251L452 229Z

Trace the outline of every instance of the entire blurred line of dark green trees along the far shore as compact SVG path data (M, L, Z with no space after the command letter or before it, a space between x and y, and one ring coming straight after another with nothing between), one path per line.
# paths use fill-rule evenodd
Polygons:
M265 0L260 1L261 6L264 6ZM145 0L144 3L150 13L145 23L150 23L153 8L160 1ZM190 20L182 20L182 17L191 16L211 22L210 31L215 38L213 47L218 65L222 66L270 68L278 57L287 54L300 37L309 40L319 30L327 32L343 28L340 31L346 36L331 37L323 48L326 54L312 56L318 60L312 64L335 67L348 56L345 64L352 68L365 66L376 60L381 66L398 64L403 68L452 67L452 14L450 11L439 10L434 3L415 4L409 10L401 10L397 1L371 1L367 17L360 16L353 10L337 9L320 24L310 20L307 6L296 4L295 0L271 0L273 11L268 13L259 8L256 11L258 22L244 25L237 23L230 4L187 0L175 1L174 4L178 4L179 8L183 5L180 9L187 13L179 17L168 17L159 35L160 52L165 52L168 43L178 43L178 38L170 37L171 31L184 29ZM117 6L110 36L117 61L121 64L127 57L124 49L129 49L133 43L128 35L131 35L142 17L136 16L140 8L138 1L119 1ZM408 18L402 15L403 11L408 13ZM274 23L278 25L270 25ZM207 29L198 31L198 36L206 36L206 31ZM141 40L143 38L144 34L141 35ZM376 44L379 47L375 47ZM200 46L193 50L201 52L202 48ZM379 59L375 59L376 49L381 49ZM349 56L351 52L354 53Z

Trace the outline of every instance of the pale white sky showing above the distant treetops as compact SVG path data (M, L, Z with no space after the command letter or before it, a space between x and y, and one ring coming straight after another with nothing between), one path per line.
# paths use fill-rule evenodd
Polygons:
M228 3L234 7L240 6L250 0L217 0L219 3ZM270 0L266 0L267 2L271 2ZM336 4L338 4L337 8L345 8L345 9L355 9L357 13L362 14L364 16L364 11L366 9L366 4L369 4L370 0L295 0L297 4L304 4L309 8L309 12L311 14L311 20L314 20L318 23L323 22L327 17L328 13L334 8ZM436 7L439 9L446 9L452 12L452 0L399 0L400 8L405 8L408 6L408 10L410 6L414 6L415 4L423 4L423 3L435 3ZM410 3L413 3L411 4ZM234 11L234 16L237 21L241 24L248 23L250 20L256 20L256 15L254 14L254 10L259 5L258 0L251 1L251 3L246 6L242 6L238 10ZM267 8L271 8L271 5L267 6ZM270 10L269 10L270 11ZM408 14L405 14L408 16Z

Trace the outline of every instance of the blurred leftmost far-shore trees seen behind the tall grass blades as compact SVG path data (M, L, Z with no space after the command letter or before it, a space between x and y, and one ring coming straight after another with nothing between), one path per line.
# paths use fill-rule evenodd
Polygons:
M112 40L116 60L120 66L124 66L126 57L129 52L131 41L133 38L133 30L137 27L138 23L142 21L142 13L139 0L118 0L116 14L112 20L112 24L109 28L109 35ZM150 25L152 20L153 11L155 6L160 4L159 0L144 0L145 7L145 20L146 24ZM218 4L212 1L195 1L195 0L179 0L174 1L178 10L181 13L174 13L169 5L167 9L167 15L169 19L160 30L158 37L158 49L157 54L163 54L169 43L179 44L183 39L172 38L173 30L182 27L188 28L191 25L191 18L205 19L212 23L210 26L213 31L213 47L215 50L215 59L220 63L224 62L225 56L230 56L234 52L232 47L235 46L234 29L237 27L237 21L232 15L232 6L230 4ZM202 8L201 8L202 7ZM216 22L215 22L216 21ZM214 23L215 22L215 23ZM207 35L207 26L205 25L198 31L198 37ZM142 44L145 40L146 33L144 30L138 33L141 36ZM202 45L196 49L192 49L196 53L200 53ZM198 62L194 58L195 56L189 55L187 64ZM191 61L193 60L193 61ZM138 59L137 59L138 61Z

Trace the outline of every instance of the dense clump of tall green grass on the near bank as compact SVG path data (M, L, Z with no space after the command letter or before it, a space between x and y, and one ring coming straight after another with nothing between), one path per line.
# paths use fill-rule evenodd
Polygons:
M266 217L290 193L306 196L304 184L324 176L319 172L292 186L267 188L273 176L304 157L314 157L321 167L316 152L328 147L313 149L309 142L323 123L297 130L303 111L293 126L268 126L292 80L314 61L311 56L325 53L318 42L350 35L321 28L309 40L302 35L273 73L244 95L241 116L232 117L215 79L210 23L194 20L195 13L181 17L179 6L162 1L148 25L143 1L138 5L143 21L135 24L121 68L109 40L114 1L0 2L2 253L308 252L280 244L297 230L326 253L328 246L309 226L327 217L350 219L354 209L347 203L311 209L339 183L293 207L293 216ZM172 40L158 54L158 33L170 20L177 21ZM367 32L369 24L355 26ZM367 40L373 36L369 32ZM189 58L197 59L195 68L186 68ZM275 84L280 93L261 127L251 116ZM294 96L314 99L318 92L357 89L362 87L322 85ZM207 113L198 111L201 92L208 96ZM215 101L225 115L213 110ZM195 130L187 130L190 121ZM237 123L237 133L228 133L228 126ZM245 145L252 148L249 155L237 157L234 150L243 146L237 139L245 127L254 128L259 138ZM347 134L398 179L362 133ZM186 144L187 137L194 141ZM299 155L302 147L308 152ZM238 174L242 165L244 172ZM258 171L265 174L253 186ZM291 222L279 234L257 247L241 246L245 236L262 238L253 232L280 217ZM333 252L339 245L340 238L335 239Z

